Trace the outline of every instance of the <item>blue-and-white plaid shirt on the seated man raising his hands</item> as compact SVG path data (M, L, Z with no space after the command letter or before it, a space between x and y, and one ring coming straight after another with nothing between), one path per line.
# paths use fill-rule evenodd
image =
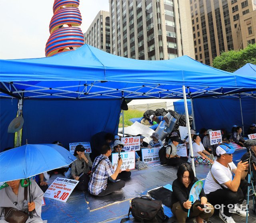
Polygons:
M102 158L105 158L100 162ZM100 164L98 164L100 162ZM88 185L88 191L92 195L98 195L102 190L106 189L108 183L108 177L112 176L115 172L112 167L112 163L105 155L97 156L92 165L92 170L98 164L97 169L92 174Z

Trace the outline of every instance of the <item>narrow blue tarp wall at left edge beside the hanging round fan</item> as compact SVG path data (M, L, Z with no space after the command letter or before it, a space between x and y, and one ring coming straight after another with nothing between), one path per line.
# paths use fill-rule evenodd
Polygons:
M17 99L0 99L0 152L7 147L14 147L14 133L8 133L7 130L10 122L16 118L17 111Z

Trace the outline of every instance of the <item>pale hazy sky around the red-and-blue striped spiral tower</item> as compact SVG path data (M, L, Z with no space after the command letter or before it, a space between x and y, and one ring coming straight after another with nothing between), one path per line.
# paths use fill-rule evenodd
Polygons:
M54 0L0 0L0 59L45 57ZM80 0L83 33L109 0Z

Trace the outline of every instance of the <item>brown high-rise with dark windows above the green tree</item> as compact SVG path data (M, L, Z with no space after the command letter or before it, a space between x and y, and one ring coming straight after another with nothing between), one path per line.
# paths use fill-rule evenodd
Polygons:
M245 27L251 27L255 37L255 9L256 0L190 0L196 60L211 65L222 51L246 47L250 38L255 42L253 35L247 38L244 33ZM247 20L251 26L244 26Z

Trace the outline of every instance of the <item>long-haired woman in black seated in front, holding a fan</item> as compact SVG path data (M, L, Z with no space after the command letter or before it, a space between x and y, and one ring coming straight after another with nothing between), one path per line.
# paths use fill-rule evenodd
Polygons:
M207 196L204 189L201 190L199 197L193 205L189 201L189 193L193 184L198 181L194 176L194 172L189 164L181 164L177 171L177 179L172 183L172 201L171 210L176 216L177 222L185 223L188 217L188 209L191 209L189 217L196 217L197 223L203 223L203 220L208 221L214 213L214 207L207 202ZM207 213L201 207L196 207L197 204L208 206L210 211Z

